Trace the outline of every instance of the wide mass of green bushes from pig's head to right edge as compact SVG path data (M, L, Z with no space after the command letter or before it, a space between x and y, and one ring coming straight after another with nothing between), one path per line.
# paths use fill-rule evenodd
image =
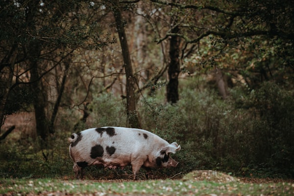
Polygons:
M264 83L251 93L246 87L232 89L231 99L223 101L214 91L197 90L195 80L181 85L185 87L180 88L177 104L162 105L153 97L144 115L149 130L182 146L174 155L180 169L174 171L197 168L237 175L294 175L292 91Z

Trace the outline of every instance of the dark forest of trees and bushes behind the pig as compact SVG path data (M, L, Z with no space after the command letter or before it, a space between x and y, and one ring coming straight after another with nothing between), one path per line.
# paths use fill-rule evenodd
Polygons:
M2 177L73 176L100 126L177 141L154 178L294 176L294 1L1 0L0 84Z

